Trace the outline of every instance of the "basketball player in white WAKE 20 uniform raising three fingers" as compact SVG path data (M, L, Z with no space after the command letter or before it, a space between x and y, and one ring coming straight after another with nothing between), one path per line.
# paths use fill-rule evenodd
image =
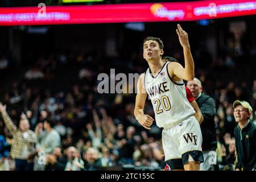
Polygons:
M202 135L195 110L186 98L183 80L193 80L194 63L188 34L178 24L176 29L183 47L185 68L176 62L163 63L163 42L148 37L143 42L143 57L149 68L138 80L134 115L146 129L154 119L144 114L144 103L150 97L155 111L156 125L163 127L162 143L165 161L171 170L199 170L204 162L201 151Z

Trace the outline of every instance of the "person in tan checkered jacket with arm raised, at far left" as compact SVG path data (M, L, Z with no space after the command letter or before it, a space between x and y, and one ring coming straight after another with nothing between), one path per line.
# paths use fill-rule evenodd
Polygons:
M0 112L5 121L5 125L13 135L13 143L11 145L11 157L15 159L16 171L31 171L33 162L29 160L29 155L35 152L36 134L30 130L30 123L26 115L22 114L19 121L19 128L14 125L6 111L6 105L0 102Z

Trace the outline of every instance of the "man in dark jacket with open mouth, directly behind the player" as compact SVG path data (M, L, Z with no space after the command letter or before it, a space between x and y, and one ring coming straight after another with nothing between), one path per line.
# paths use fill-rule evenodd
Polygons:
M214 124L214 115L216 114L216 106L212 97L203 93L201 81L194 78L187 82L188 88L191 90L193 97L195 97L197 104L203 114L204 121L201 124L201 131L203 135L202 150L204 154L204 163L200 164L201 171L213 171L214 166L210 164L209 152L216 149L216 131Z

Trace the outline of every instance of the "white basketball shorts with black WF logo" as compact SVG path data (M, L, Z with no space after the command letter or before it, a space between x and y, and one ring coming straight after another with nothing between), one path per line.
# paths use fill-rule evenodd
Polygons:
M164 128L162 143L165 161L181 159L183 165L189 161L204 162L202 142L200 125L193 115L173 127Z

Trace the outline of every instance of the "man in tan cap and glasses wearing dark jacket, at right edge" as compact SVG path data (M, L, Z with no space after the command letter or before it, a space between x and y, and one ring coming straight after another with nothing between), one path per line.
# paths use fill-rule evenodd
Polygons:
M233 103L234 118L238 122L234 129L237 151L237 171L256 170L256 125L250 121L253 108L246 101Z

